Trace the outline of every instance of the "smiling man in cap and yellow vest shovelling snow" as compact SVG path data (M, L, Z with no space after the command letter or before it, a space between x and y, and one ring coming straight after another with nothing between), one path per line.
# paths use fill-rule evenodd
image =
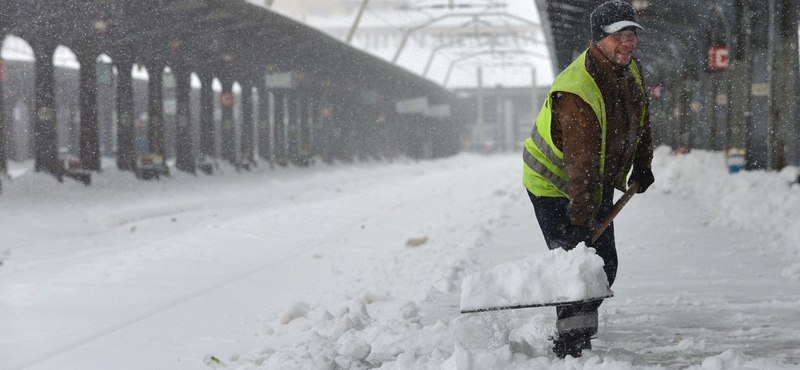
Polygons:
M614 283L617 252L614 226L591 241L608 214L614 188L655 181L648 99L633 51L643 29L633 7L608 1L591 14L592 42L553 82L523 150L528 189L548 248L570 250L580 242L595 248ZM579 357L591 349L601 301L557 308L553 352Z

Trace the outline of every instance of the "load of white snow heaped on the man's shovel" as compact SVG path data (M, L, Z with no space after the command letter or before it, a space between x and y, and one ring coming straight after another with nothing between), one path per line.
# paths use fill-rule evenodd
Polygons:
M467 275L461 284L461 310L530 306L613 295L603 259L581 243Z

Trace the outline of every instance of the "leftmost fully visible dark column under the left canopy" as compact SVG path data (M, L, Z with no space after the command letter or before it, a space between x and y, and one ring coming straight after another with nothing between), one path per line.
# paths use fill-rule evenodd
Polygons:
M53 52L55 45L31 45L36 57L36 117L33 127L34 169L47 171L60 179Z

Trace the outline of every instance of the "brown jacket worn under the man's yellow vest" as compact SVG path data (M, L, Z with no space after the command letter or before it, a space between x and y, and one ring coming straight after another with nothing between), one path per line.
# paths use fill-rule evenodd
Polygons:
M650 168L653 140L649 110L645 114L644 126L639 128L642 106L649 102L630 70L608 61L594 45L586 54L586 70L600 88L606 107L606 156L602 178L602 132L588 103L574 94L553 93L551 135L553 143L564 153L564 166L569 177L570 222L588 226L598 209L595 197L599 186L614 186L634 155L637 136L640 142L633 168Z

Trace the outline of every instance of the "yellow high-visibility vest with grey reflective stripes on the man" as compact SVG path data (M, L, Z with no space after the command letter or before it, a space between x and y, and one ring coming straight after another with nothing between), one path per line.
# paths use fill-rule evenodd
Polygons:
M575 61L572 62L564 71L559 73L547 93L542 110L536 119L531 136L525 140L525 148L522 151L522 183L533 195L547 197L567 197L567 183L569 178L564 170L564 153L553 143L550 134L550 124L552 122L553 93L567 92L575 94L589 106L592 107L597 120L600 122L602 140L600 143L600 173L603 176L606 157L606 106L603 102L603 94L594 81L589 71L586 70L586 53L584 51ZM636 79L639 88L642 89L642 78L636 63L631 61L628 69ZM642 107L639 126L644 125L646 106ZM636 145L639 140L637 138ZM634 153L636 147L634 147ZM628 163L620 178L617 179L616 186L625 190L625 178L630 170L631 163ZM597 201L602 195L602 184L597 194Z

